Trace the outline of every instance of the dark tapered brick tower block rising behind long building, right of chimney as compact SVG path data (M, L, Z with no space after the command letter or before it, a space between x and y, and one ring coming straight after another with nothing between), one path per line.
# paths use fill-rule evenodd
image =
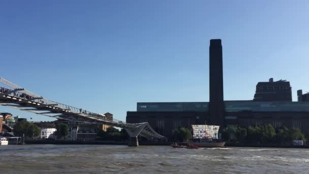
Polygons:
M292 88L286 80L258 82L253 101L292 101Z

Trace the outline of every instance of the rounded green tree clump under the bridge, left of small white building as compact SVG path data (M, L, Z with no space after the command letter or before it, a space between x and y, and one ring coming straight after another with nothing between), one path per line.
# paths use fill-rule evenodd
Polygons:
M14 125L13 132L15 136L25 135L26 138L34 138L40 135L41 128L29 122L18 122Z

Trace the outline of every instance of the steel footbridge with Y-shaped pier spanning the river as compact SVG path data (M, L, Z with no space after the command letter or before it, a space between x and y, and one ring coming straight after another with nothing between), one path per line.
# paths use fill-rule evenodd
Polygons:
M148 140L166 140L166 137L154 131L149 123L130 124L107 118L102 114L51 101L27 91L2 77L0 77L0 105L59 120L94 124L102 123L123 128L130 136L129 146L138 146L138 135L146 137Z

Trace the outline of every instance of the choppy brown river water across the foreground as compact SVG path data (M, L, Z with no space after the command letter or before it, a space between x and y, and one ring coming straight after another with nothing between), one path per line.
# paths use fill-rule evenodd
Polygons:
M309 149L9 145L0 173L309 173Z

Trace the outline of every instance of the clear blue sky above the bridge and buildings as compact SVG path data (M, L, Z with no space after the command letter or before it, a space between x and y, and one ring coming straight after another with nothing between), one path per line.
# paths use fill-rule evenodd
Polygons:
M296 101L309 91L309 2L295 2L1 1L0 76L125 120L136 102L208 101L209 40L222 39L225 100L273 77Z

